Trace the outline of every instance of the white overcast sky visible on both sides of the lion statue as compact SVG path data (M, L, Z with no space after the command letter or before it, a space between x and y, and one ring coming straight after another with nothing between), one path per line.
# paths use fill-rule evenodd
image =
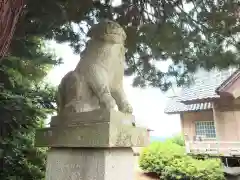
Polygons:
M63 58L63 64L56 66L47 76L46 81L58 85L62 77L73 70L80 57L74 55L67 44L56 44L50 42L50 46L55 49L56 55ZM167 67L167 63L161 63L161 67ZM124 79L124 88L130 103L133 106L137 123L152 130L153 136L171 136L181 131L179 115L166 115L167 95L157 88L133 88L132 78Z

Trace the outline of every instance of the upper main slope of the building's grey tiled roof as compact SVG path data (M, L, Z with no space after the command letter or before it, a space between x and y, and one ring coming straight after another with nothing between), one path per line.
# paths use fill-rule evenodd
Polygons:
M181 101L191 101L206 98L217 98L216 89L228 77L230 77L236 69L229 70L212 70L210 72L199 70L195 75L194 84L190 87L182 89L179 95Z

